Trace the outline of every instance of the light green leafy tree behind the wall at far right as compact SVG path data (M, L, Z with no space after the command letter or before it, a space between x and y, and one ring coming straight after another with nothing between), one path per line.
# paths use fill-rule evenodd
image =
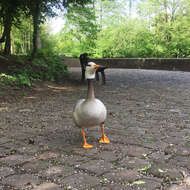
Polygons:
M141 0L139 12L154 36L155 57L188 55L189 4L188 0Z

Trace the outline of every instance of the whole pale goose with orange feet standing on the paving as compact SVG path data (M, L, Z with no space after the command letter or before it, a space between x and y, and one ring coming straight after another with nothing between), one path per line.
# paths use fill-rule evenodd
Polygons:
M92 148L86 141L85 128L94 126L100 126L102 136L99 140L100 143L110 143L108 137L104 134L104 122L107 116L107 110L104 104L94 95L94 83L96 70L100 68L100 65L94 62L88 62L85 70L85 78L88 81L88 91L86 99L80 99L77 101L74 111L73 119L77 127L81 129L83 137L83 148Z

